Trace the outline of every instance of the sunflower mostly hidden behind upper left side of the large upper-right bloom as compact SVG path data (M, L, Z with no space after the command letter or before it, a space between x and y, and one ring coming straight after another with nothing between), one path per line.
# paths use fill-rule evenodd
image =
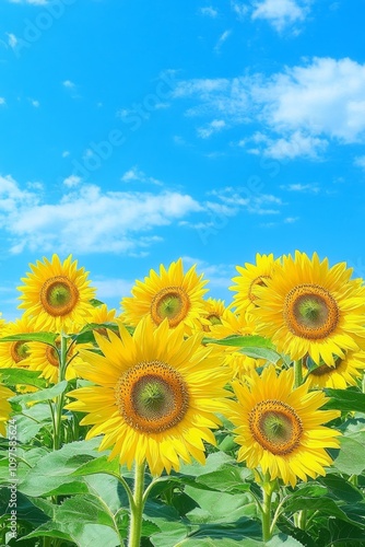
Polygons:
M236 266L239 276L232 279L236 284L229 287L229 290L237 291L233 300L238 313L243 314L255 307L257 287L266 284L266 280L271 278L278 264L280 264L280 258L274 259L273 254L260 255L257 253L256 264L246 263L245 267Z

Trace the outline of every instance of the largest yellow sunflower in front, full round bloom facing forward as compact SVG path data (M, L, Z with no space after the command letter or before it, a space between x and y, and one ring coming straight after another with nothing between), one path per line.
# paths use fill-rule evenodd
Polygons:
M113 446L109 459L129 468L146 461L161 475L191 456L204 464L203 441L215 444L214 412L225 411L229 395L225 368L201 346L202 334L184 337L184 325L170 329L166 318L155 328L145 317L131 336L117 323L120 338L95 334L104 356L81 351L78 373L97 385L69 393L78 400L67 408L89 412L86 439L103 434L99 450Z

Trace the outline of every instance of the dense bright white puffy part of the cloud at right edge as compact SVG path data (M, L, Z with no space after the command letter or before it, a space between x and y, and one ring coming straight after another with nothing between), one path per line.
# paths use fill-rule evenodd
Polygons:
M356 142L365 132L365 65L315 58L287 69L254 93L272 127Z

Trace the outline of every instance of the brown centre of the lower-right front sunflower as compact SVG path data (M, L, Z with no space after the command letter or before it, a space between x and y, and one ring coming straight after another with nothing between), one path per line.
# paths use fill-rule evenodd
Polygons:
M272 454L290 454L301 442L302 420L294 408L281 400L258 403L250 410L248 421L254 439Z

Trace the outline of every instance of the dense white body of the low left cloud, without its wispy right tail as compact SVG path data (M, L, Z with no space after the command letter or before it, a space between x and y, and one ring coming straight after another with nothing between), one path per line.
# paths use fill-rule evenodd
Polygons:
M203 207L178 191L103 191L72 184L56 203L43 202L37 191L22 190L10 176L0 178L0 228L11 252L31 251L127 253L148 251L161 241L154 231Z

